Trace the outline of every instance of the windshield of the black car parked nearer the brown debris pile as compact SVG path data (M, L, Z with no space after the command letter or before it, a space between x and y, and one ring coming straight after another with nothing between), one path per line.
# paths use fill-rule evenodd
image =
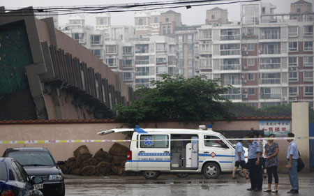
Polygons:
M22 166L53 166L54 161L47 152L12 152L8 157L15 158Z

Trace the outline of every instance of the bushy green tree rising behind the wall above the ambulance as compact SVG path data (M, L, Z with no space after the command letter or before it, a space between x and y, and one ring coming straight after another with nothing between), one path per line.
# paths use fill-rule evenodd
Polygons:
M140 88L137 98L128 105L117 105L117 119L128 126L148 121L199 122L231 119L227 104L220 96L231 86L220 86L218 80L205 76L184 79L181 75L163 75L163 80L153 81L153 89Z

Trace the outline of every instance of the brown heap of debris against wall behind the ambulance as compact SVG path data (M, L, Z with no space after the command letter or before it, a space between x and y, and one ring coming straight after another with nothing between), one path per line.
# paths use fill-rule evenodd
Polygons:
M68 158L63 165L59 165L63 174L82 176L105 176L110 174L124 174L124 165L128 148L114 143L109 153L98 150L94 157L87 146L83 145L74 151L74 157Z

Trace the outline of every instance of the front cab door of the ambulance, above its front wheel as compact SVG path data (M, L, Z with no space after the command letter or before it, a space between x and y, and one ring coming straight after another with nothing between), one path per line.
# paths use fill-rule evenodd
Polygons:
M215 160L219 163L221 171L227 172L232 170L232 149L222 137L218 135L203 135L202 149L200 150L200 157L202 160Z

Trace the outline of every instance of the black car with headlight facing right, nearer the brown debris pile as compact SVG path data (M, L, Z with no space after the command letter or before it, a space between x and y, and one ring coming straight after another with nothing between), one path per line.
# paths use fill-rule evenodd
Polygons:
M29 176L42 177L43 184L37 188L45 196L65 195L64 176L48 149L33 147L6 149L3 157L15 158Z

